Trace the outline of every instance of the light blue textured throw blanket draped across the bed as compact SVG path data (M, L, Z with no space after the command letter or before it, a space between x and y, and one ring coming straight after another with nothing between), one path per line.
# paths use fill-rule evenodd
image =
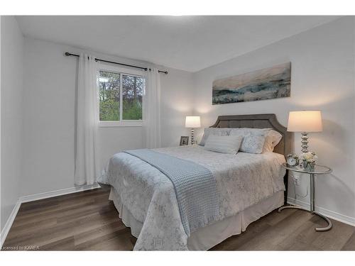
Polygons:
M173 183L185 233L217 221L219 216L216 180L212 172L195 162L153 150L126 150L163 172Z

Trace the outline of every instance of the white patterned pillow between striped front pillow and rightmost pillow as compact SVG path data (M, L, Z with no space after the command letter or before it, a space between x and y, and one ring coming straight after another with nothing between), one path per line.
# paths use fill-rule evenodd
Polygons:
M241 135L243 141L239 150L244 153L263 153L266 135L271 128L233 128L229 135Z

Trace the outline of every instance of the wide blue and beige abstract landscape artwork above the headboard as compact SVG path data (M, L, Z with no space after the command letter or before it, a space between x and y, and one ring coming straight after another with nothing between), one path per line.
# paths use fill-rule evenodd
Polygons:
M217 79L212 84L212 104L289 97L291 63Z

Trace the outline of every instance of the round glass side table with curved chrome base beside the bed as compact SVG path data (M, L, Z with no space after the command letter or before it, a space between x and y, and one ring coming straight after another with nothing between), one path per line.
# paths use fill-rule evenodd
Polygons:
M328 223L328 226L322 227L322 228L319 228L319 227L315 228L315 231L329 231L332 228L332 222L326 216L319 214L315 211L315 175L316 174L330 174L332 172L332 169L330 169L329 167L323 166L323 165L315 165L315 168L313 170L305 170L299 166L290 166L285 162L283 163L283 167L286 170L290 170L293 172L301 172L304 174L310 174L310 213L320 216ZM303 211L308 211L307 209L303 209L299 206L282 206L278 209L278 212L282 211L283 209L300 209Z

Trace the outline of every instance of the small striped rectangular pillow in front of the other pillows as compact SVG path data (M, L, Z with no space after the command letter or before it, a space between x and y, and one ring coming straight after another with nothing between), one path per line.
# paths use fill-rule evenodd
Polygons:
M236 154L242 140L242 135L209 135L204 144L204 149L217 153Z

